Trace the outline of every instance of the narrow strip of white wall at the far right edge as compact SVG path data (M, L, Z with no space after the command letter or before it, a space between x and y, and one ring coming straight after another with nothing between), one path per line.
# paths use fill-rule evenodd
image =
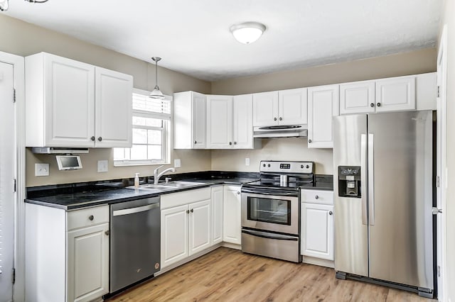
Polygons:
M444 1L442 26L447 24L447 191L446 191L446 242L447 288L446 301L455 302L455 1Z

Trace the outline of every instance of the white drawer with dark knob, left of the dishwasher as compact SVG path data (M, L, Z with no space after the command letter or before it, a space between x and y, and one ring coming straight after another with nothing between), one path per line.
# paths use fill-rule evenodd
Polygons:
M109 222L109 206L68 212L68 230Z

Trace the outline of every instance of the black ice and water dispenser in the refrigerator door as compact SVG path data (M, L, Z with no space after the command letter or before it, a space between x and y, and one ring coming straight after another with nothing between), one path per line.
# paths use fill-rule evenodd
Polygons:
M360 198L360 167L338 166L338 196Z

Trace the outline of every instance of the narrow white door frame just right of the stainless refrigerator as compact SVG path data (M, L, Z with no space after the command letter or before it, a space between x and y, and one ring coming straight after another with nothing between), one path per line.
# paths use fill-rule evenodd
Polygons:
M439 41L437 56L437 85L439 97L437 98L437 176L439 187L437 188L437 208L442 213L438 214L437 220L437 265L441 278L437 278L438 300L444 301L444 293L447 284L446 264L446 140L447 140L447 26L442 28L441 40Z

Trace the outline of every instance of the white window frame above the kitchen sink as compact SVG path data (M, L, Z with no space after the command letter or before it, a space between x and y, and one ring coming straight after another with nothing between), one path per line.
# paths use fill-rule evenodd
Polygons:
M140 94L142 96L149 96L150 91L142 90L142 89L133 89L133 94ZM115 160L114 155L114 167L132 167L132 166L149 166L149 165L156 165L156 164L170 164L171 162L171 136L172 136L172 121L173 121L173 106L172 106L172 96L164 96L164 100L169 101L169 106L171 108L171 113L154 113L154 112L146 112L137 109L132 109L132 117L138 116L142 118L156 118L161 119L163 121L163 127L156 127L156 126L138 126L132 125L132 129L146 129L146 130L161 130L161 157L162 160ZM131 121L133 123L133 121ZM138 144L141 145L141 144ZM145 144L144 144L145 145ZM148 145L148 144L147 144ZM123 149L129 150L130 148L114 148L114 149ZM114 150L113 150L114 152ZM131 155L130 155L131 156Z

